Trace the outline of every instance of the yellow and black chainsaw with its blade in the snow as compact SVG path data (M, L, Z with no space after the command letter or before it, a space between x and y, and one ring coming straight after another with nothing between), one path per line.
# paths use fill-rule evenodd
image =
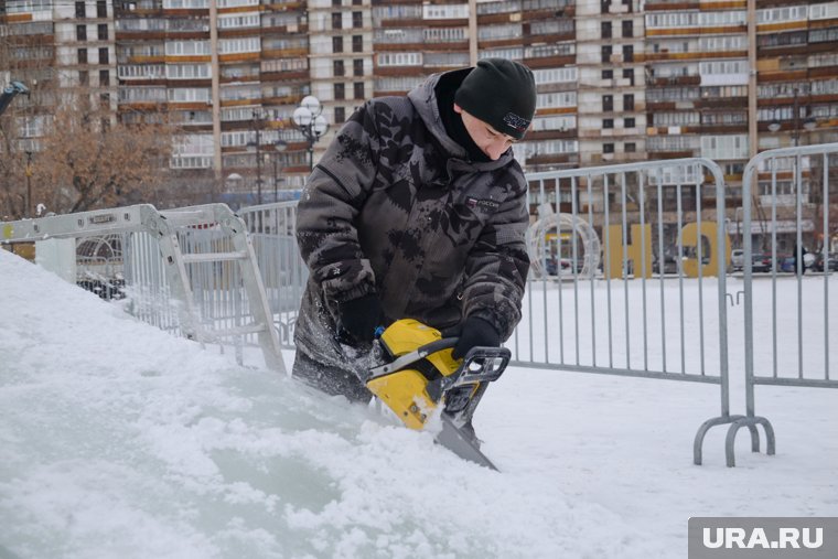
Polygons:
M412 319L394 322L379 333L366 386L410 429L422 430L439 411L438 443L462 459L497 470L480 451L471 418L488 383L509 363L505 347L473 347L462 359L451 351L456 337Z

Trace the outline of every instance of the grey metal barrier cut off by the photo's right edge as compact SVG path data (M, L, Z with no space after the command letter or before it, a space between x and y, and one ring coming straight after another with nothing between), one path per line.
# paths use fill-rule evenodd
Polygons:
M743 248L744 248L744 340L745 340L745 418L734 421L729 430L726 443L728 465L735 464L733 443L737 432L742 427L753 431L755 426L762 426L765 431L767 453L775 449L774 429L771 422L755 415L755 386L801 386L838 388L838 378L830 375L830 354L836 350L832 338L830 345L829 318L838 313L835 298L830 302L829 288L838 288L838 273L834 273L836 255L830 243L830 233L835 223L830 224L830 184L838 184L835 171L838 169L838 143L807 146L764 151L753 158L745 168L743 176L744 201L752 201L758 209L758 223L753 224L752 204L743 205ZM830 175L830 171L832 174ZM831 180L830 180L831 179ZM754 192L754 183L758 191ZM834 189L835 190L835 189ZM806 203L804 203L806 197ZM784 200L785 198L785 200ZM838 201L838 200L837 200ZM788 205L782 202L791 203ZM763 205L770 207L770 216L765 215ZM814 207L813 207L814 206ZM818 216L818 207L823 216ZM781 215L785 209L786 216ZM813 212L807 219L805 212ZM784 219L785 217L785 219ZM782 243L778 232L781 223L793 222L793 238L789 239L792 250L789 257L783 257ZM810 223L809 223L810 222ZM820 223L818 223L820 222ZM756 225L754 227L753 225ZM823 276L806 272L804 259L804 233L809 233L809 226L823 234L819 248ZM814 233L814 232L813 232ZM753 235L756 234L767 251L762 257L753 250ZM808 235L807 235L808 236ZM815 247L813 247L815 248ZM788 268L791 260L791 278L781 277L784 267ZM765 264L767 262L767 264ZM767 266L770 269L770 290L760 286L760 301L770 301L754 310L754 265ZM796 282L796 304L789 309L777 304L777 282ZM805 286L805 289L804 289ZM831 309L830 309L831 304ZM806 312L814 309L815 312ZM817 311L823 308L823 314ZM831 313L830 313L831 310ZM778 313L782 313L781 320ZM756 318L755 318L756 314ZM765 340L771 340L771 356L762 355L756 362L754 337L758 327L771 324L770 332L760 332ZM806 335L804 326L808 324L814 334ZM815 327L812 327L815 326ZM818 335L818 329L823 335ZM756 370L767 374L758 375ZM754 448L753 450L759 450Z

